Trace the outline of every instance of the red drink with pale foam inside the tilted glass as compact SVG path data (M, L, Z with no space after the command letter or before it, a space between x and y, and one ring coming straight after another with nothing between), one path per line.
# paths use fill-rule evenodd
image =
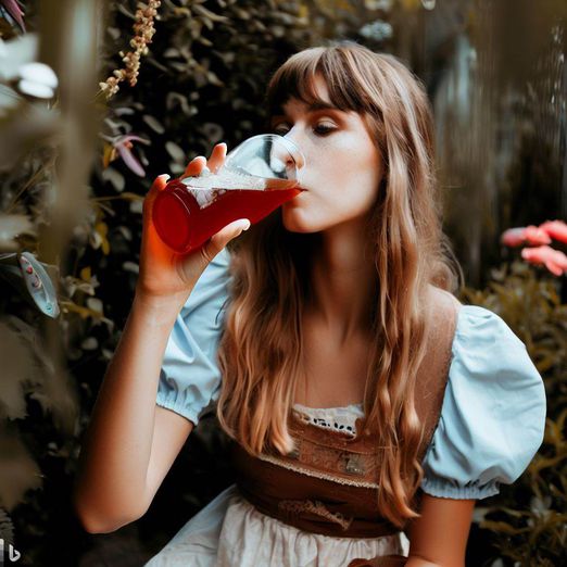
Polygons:
M205 169L199 177L174 179L165 186L153 204L153 223L169 248L187 253L232 220L257 223L301 191L297 180Z

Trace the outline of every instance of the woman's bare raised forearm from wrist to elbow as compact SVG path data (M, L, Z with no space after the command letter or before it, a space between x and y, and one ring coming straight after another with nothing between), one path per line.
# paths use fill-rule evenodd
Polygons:
M74 503L87 529L111 531L143 512L160 368L181 305L134 300L83 441Z

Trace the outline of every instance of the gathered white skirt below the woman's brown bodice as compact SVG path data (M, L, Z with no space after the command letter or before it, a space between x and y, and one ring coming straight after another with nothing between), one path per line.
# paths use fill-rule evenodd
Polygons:
M146 567L345 567L354 558L407 555L408 550L403 533L355 539L301 531L259 512L232 484Z

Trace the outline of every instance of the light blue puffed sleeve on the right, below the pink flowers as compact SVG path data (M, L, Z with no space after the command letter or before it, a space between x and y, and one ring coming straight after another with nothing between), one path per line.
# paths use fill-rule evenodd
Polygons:
M524 342L496 313L462 305L424 490L486 497L525 470L543 440L545 389Z

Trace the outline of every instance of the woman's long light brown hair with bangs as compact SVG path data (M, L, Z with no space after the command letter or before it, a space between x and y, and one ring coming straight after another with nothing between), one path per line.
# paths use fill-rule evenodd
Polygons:
M279 67L267 89L268 115L291 97L315 102L316 75L337 108L360 113L385 166L368 232L377 293L364 410L386 448L378 505L402 526L418 516L412 497L423 478L414 391L426 350L424 305L430 285L453 291L458 274L441 229L431 111L419 80L394 56L340 42L301 51ZM252 454L293 448L287 421L302 373L302 313L318 245L319 235L286 230L275 212L234 252L217 411L223 428Z

